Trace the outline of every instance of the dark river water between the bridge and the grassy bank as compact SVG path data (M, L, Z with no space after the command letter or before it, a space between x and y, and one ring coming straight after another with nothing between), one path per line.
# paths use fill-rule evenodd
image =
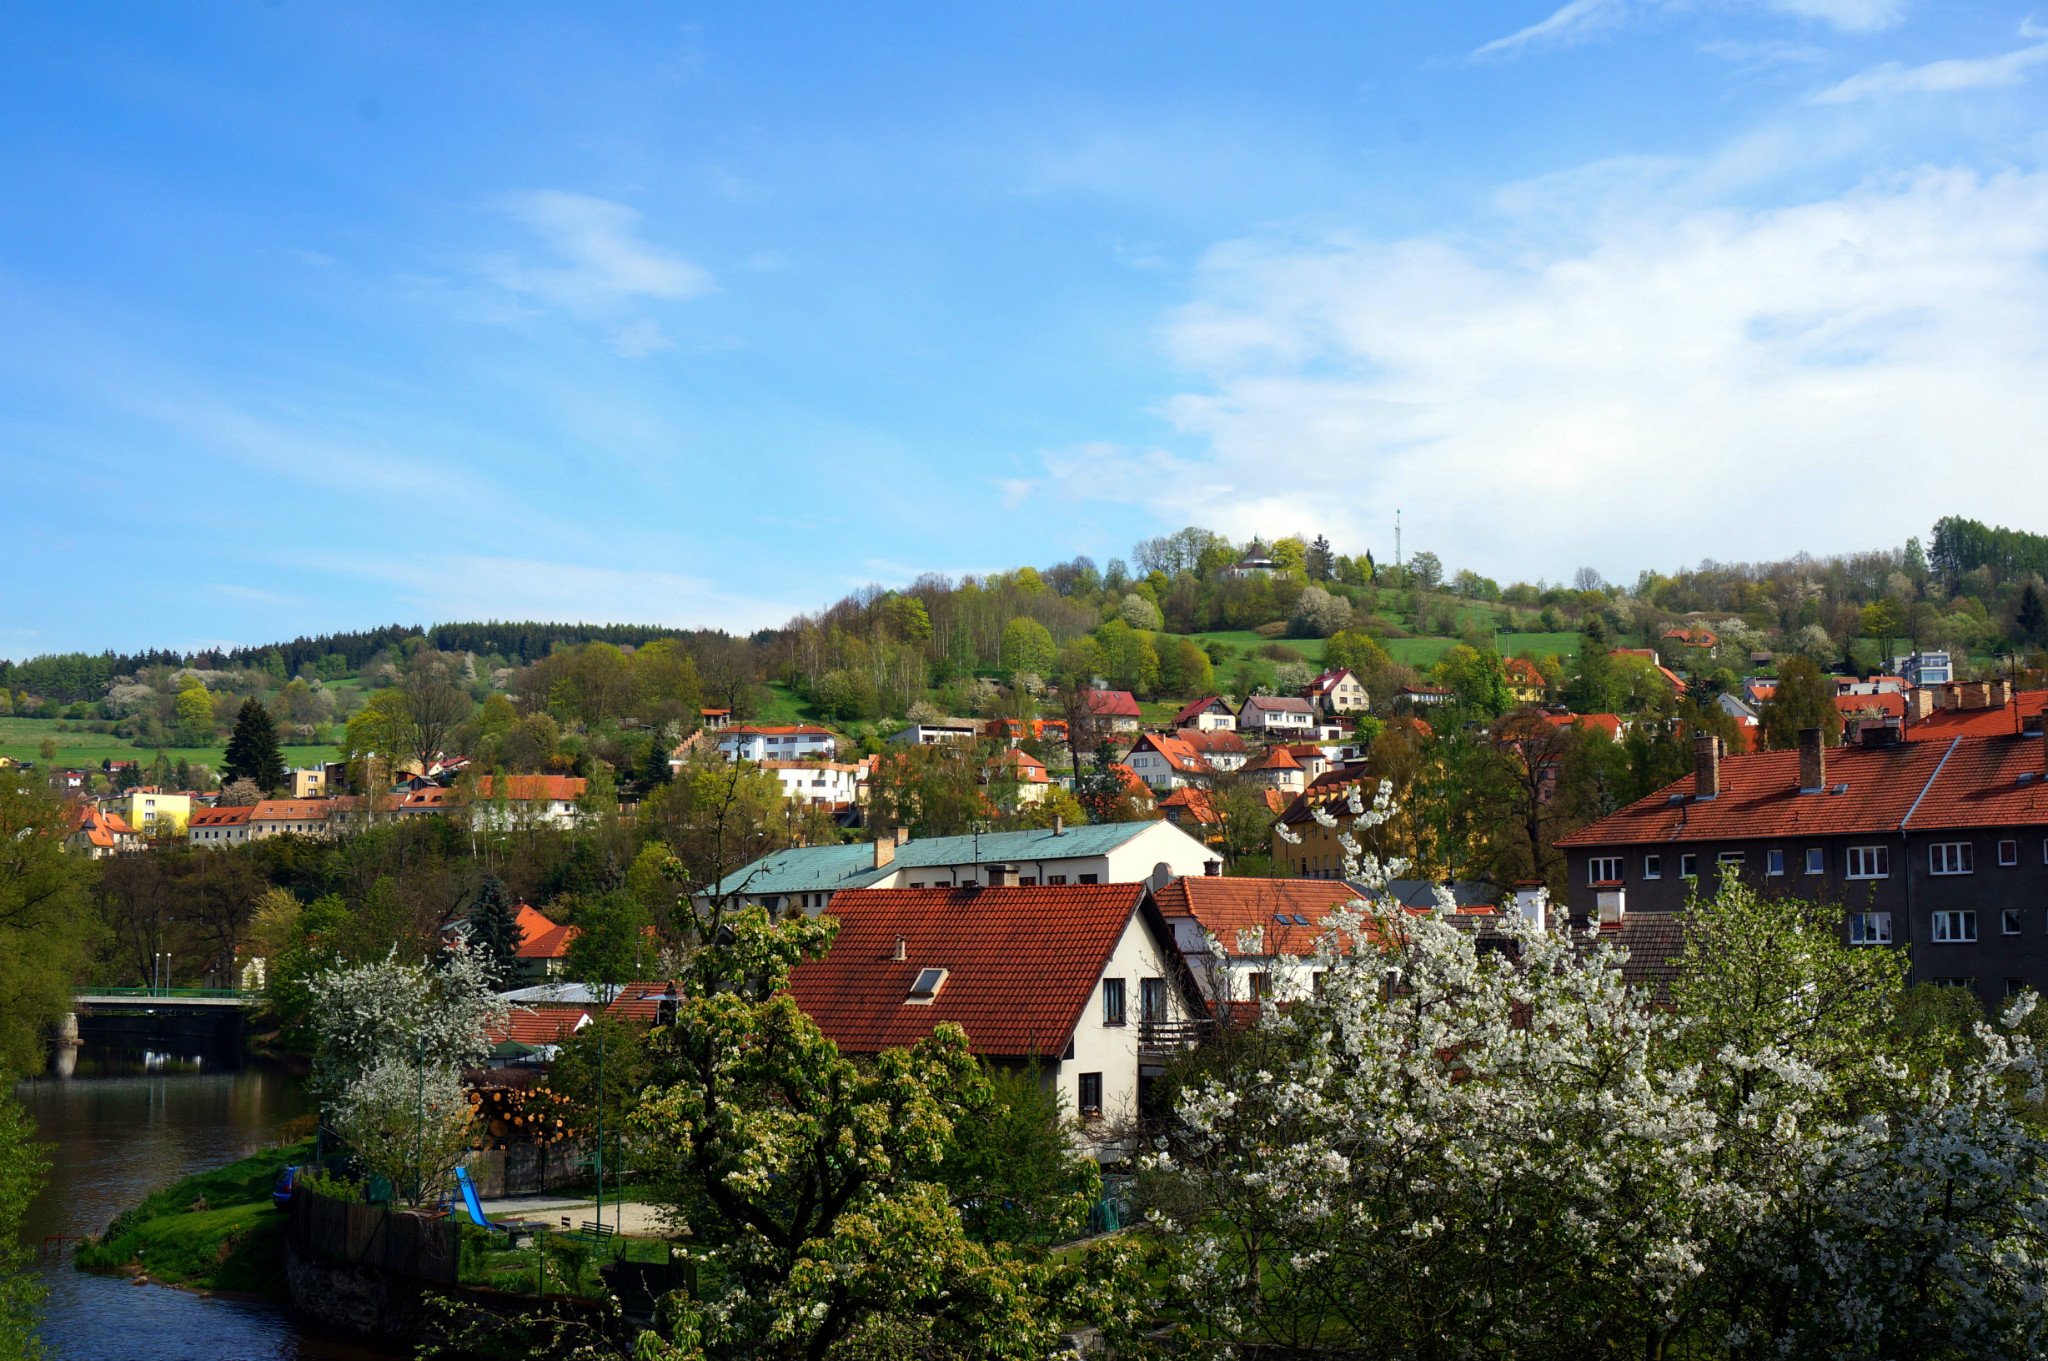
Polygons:
M53 1144L49 1185L25 1234L96 1234L150 1191L246 1156L307 1109L299 1079L276 1064L209 1052L84 1046L59 1050L47 1077L14 1095ZM43 1341L61 1361L358 1361L383 1353L317 1336L291 1310L133 1285L129 1277L43 1267Z

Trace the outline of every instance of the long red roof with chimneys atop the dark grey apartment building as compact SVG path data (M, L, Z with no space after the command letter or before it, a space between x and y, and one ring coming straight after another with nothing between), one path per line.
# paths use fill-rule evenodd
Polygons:
M1718 798L1694 798L1686 776L1559 845L2040 827L2048 825L2042 770L2042 739L2034 735L1829 747L1827 792L1802 794L1798 751L1755 751L1720 761ZM1847 790L1837 794L1839 786Z

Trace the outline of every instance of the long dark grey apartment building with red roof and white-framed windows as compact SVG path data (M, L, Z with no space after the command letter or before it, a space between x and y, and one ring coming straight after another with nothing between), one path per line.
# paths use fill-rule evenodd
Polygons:
M1841 903L1855 946L1911 952L1915 982L1987 1003L2048 991L2048 751L2038 733L1884 741L1802 735L1796 751L1722 755L1559 841L1575 917L1671 913L1735 874Z

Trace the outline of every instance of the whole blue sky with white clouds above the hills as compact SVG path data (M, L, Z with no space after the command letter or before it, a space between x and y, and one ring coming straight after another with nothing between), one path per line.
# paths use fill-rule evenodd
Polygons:
M2048 528L2048 12L6 6L0 655Z

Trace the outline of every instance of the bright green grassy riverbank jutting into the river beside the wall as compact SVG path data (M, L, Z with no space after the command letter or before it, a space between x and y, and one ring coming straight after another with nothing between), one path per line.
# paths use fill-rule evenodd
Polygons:
M283 1144L154 1191L78 1248L78 1267L141 1267L164 1285L283 1300L285 1214L270 1205L270 1187L281 1167L311 1158L313 1140Z

